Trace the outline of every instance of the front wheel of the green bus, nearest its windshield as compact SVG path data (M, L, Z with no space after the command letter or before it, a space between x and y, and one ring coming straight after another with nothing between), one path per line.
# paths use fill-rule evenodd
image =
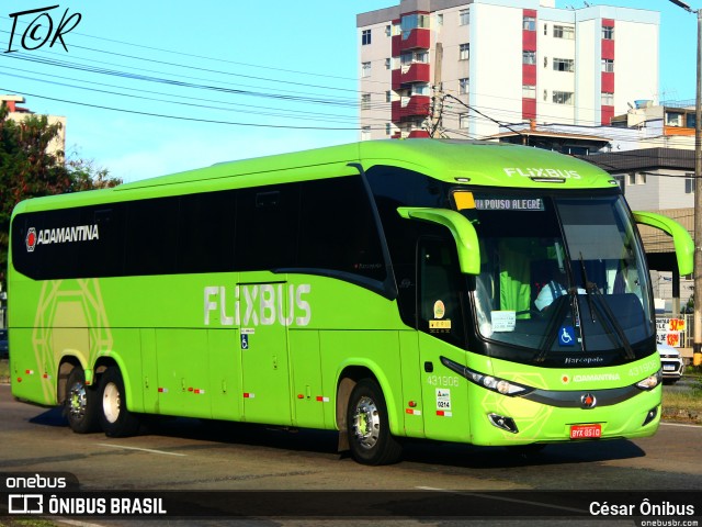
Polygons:
M361 464L399 461L403 447L390 435L387 406L375 381L362 379L353 388L347 408L351 456Z

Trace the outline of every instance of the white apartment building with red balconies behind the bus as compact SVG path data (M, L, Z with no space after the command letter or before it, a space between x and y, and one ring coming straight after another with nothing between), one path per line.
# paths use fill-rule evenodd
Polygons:
M659 13L555 0L400 0L356 16L362 138L609 124L658 98ZM580 5L580 7L578 7Z

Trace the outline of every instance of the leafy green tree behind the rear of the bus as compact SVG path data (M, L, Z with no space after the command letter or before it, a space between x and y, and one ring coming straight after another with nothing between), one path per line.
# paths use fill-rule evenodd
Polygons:
M20 201L114 187L122 181L92 161L65 161L65 153L48 148L61 128L49 124L46 115L27 115L22 121L8 117L0 105L0 287L8 265L8 244L12 210Z

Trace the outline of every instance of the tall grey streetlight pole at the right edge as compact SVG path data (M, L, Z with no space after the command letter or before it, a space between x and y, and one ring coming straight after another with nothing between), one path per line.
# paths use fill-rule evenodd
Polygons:
M695 11L681 0L670 0L690 13L698 14L698 82L694 100L694 366L702 365L702 9Z

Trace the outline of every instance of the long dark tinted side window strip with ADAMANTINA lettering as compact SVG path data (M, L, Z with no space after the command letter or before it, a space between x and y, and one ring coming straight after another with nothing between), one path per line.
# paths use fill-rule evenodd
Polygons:
M12 250L34 279L267 269L386 278L360 176L20 214Z

